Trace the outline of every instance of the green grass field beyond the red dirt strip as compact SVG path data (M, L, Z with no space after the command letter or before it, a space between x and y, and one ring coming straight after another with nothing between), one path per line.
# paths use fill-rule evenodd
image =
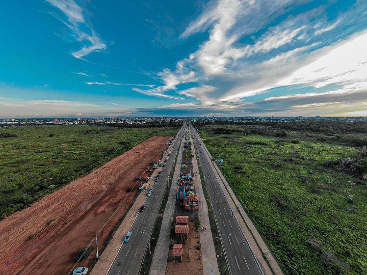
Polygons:
M153 135L175 128L93 125L0 128L0 214L18 211L106 163Z

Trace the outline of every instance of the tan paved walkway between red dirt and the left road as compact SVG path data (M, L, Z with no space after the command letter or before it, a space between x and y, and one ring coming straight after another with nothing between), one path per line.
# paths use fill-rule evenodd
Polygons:
M170 153L172 148L173 146L170 146L167 153ZM166 158L166 156L163 156L162 160L164 158ZM144 183L143 186L146 186L147 184L149 184L150 186L154 185L153 179L155 178L156 175L158 175L160 170L161 170L160 168L155 169L154 172L152 173L151 179L147 183ZM100 255L97 263L94 265L93 269L91 270L90 275L102 275L102 274L108 273L113 262L115 261L115 258L117 257L118 252L121 249L122 244L124 243L126 233L130 231L130 228L132 228L135 222L135 219L139 214L139 210L141 206L144 204L146 198L147 198L147 193L144 191L140 192L138 198L135 200L133 206L127 212L125 218L123 219L121 225L119 226L116 233L110 240L106 249Z

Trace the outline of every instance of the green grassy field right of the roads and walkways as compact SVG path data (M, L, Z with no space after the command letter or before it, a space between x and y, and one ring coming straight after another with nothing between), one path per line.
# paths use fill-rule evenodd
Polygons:
M215 128L199 134L285 272L367 274L366 184L324 166L358 148Z

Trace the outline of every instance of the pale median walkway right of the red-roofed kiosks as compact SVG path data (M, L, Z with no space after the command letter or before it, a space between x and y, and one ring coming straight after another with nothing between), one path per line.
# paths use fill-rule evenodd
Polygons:
M205 227L205 231L200 230L200 243L201 243L201 255L203 264L203 273L206 274L216 274L219 275L218 262L216 258L214 240L212 235L212 230L209 222L208 208L206 200L204 197L201 178L199 173L199 167L197 164L196 153L194 149L194 141L192 136L190 136L191 141L191 152L193 157L193 175L195 177L195 191L196 195L199 197L199 221L201 226Z

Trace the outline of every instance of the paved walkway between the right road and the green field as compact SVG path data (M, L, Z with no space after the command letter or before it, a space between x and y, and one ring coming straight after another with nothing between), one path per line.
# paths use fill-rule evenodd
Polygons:
M207 157L213 159L212 155L209 153L206 146L204 144L202 145L204 146L204 149L207 152ZM219 170L217 163L213 161L211 162L215 170L217 171L217 173L215 174L223 189L224 195L226 196L227 201L230 204L230 207L233 209L234 216L239 222L243 233L245 234L248 242L250 243L251 249L256 256L256 259L260 264L261 269L263 269L264 274L283 275L283 272L281 271L278 263L276 262L273 255L269 251L268 246L265 244L263 238L261 238L260 234L257 232L257 229L253 225L251 219L248 217L241 203L234 195L232 188L229 186L222 172Z

